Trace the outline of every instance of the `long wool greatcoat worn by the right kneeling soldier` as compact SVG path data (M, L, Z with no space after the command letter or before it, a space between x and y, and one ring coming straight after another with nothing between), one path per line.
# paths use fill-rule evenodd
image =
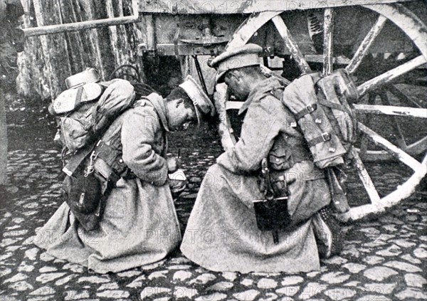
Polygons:
M277 79L268 78L251 91L241 109L247 110L241 138L218 157L201 184L181 251L209 270L297 273L320 268L310 217L330 203L330 193L302 134L292 127L294 117L270 93L278 87ZM272 153L288 158L290 165L296 162L275 171L292 182L292 224L279 231L277 245L270 231L258 230L253 210L253 200L264 198L257 181L260 162Z

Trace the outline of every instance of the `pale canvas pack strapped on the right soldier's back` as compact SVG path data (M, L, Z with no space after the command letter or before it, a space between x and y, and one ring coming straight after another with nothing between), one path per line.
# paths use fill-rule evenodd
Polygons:
M300 128L313 162L325 170L332 205L344 213L349 210L342 166L356 141L357 120L351 103L359 97L356 85L344 70L321 77L320 73L303 75L273 95L294 114L290 127Z

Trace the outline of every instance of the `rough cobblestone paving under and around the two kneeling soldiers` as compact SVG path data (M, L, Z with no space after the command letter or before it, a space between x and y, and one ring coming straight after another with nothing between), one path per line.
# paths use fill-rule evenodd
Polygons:
M182 229L206 169L221 152L211 137L184 138L171 143L183 148L189 178L176 200ZM213 273L177 250L153 265L99 275L33 245L37 229L60 206L60 154L45 144L10 152L9 173L21 191L0 208L0 301L427 300L425 186L378 218L346 225L342 254L322 260L320 272Z

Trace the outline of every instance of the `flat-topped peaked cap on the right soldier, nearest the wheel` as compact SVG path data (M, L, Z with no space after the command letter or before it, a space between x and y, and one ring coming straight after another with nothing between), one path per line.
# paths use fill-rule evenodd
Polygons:
M228 70L260 65L259 53L262 51L261 46L250 43L221 53L210 63L210 66L216 69L216 83L223 83L223 77Z

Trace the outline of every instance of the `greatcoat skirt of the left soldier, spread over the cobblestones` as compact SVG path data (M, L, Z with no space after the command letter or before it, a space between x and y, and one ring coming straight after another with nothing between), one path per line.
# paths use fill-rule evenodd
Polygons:
M117 182L97 230L85 231L63 203L34 239L48 254L96 273L155 263L180 241L169 186L153 186L139 179Z

